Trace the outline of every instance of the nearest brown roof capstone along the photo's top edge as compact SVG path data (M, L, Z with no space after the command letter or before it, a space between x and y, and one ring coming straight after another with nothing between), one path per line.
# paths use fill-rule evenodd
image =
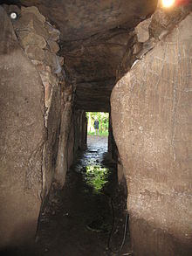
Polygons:
M6 1L9 2L9 1ZM122 25L132 28L134 19L153 12L156 0L20 0L25 6L37 5L40 12L61 31L65 41L89 38L93 34Z

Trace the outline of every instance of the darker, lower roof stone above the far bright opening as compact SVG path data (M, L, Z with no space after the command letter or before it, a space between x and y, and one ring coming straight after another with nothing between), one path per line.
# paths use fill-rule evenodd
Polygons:
M127 31L78 50L61 50L65 66L77 85L76 106L90 111L108 111L116 70L127 49Z

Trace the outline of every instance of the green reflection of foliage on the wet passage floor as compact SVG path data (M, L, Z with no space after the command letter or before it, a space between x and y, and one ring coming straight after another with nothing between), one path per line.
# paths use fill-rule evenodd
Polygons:
M100 166L86 166L86 183L91 185L95 192L99 193L108 182L108 169Z

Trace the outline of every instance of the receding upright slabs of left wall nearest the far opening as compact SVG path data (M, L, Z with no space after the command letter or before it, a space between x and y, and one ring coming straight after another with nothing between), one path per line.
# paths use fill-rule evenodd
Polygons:
M55 173L55 180L59 187L63 187L65 184L66 172L70 169L78 151L86 149L86 130L86 112L82 110L74 111L72 102L66 101L62 110Z

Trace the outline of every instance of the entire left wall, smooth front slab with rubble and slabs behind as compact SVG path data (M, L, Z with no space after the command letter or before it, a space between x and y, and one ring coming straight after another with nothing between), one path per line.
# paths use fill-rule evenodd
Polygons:
M36 7L3 8L0 246L13 246L34 239L51 183L65 183L73 157L66 154L73 89L65 81L64 59L58 56L59 31ZM10 19L11 11L17 11L17 19Z

